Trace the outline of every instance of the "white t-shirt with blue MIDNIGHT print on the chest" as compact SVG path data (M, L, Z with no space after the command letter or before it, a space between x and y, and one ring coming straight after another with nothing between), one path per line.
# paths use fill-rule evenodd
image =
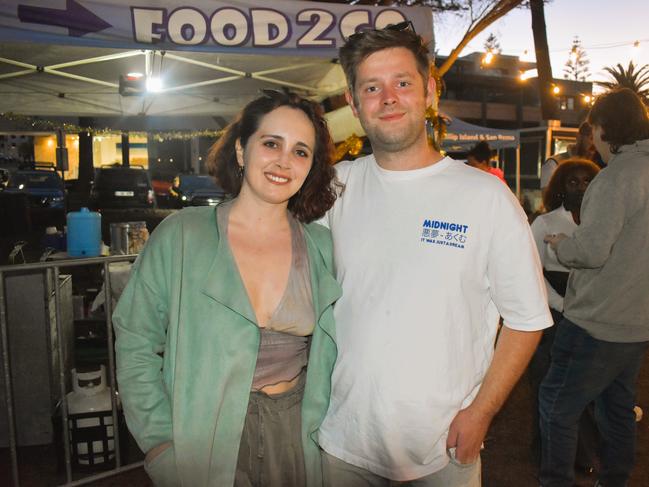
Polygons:
M450 158L386 171L338 164L346 185L325 217L343 296L338 359L319 441L393 480L448 463L446 437L506 326L550 326L529 225L497 178Z

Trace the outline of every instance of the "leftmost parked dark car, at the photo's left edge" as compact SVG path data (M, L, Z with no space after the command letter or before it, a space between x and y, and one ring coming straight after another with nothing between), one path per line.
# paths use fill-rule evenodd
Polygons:
M63 180L53 166L36 166L10 173L4 192L25 193L32 208L65 209Z

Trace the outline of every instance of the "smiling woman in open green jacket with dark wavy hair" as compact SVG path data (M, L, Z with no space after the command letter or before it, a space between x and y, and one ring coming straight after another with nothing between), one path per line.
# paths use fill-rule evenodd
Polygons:
M167 218L136 261L117 378L156 485L319 483L340 288L309 222L336 197L331 149L317 105L268 92L210 151L232 198Z

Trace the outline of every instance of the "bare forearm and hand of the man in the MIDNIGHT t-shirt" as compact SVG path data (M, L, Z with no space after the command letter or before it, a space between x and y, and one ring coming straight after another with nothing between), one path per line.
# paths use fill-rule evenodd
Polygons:
M525 371L542 333L518 331L506 326L502 328L493 361L478 395L451 422L446 447L456 448L458 462L471 463L480 454L480 447L493 417Z

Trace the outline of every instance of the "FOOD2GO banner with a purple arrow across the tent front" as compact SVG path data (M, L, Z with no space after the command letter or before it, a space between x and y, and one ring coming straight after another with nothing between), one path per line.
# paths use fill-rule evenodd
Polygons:
M182 5L171 0L3 0L0 41L335 57L354 32L406 20L432 43L428 7L287 0Z

